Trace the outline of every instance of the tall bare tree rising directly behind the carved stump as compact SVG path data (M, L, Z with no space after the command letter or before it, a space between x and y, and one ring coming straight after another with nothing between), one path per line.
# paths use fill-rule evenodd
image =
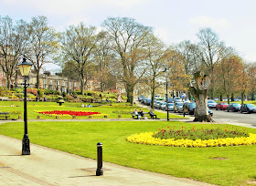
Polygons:
M200 29L197 33L199 46L203 51L203 61L208 67L209 75L213 75L216 62L219 61L220 46L223 45L219 41L219 36L209 27ZM214 98L214 79L211 79L210 98Z

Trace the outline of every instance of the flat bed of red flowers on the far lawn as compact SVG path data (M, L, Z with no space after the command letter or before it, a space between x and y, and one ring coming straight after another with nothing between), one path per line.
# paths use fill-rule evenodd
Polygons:
M62 115L62 116L90 116L101 114L100 112L90 111L72 111L72 110L53 110L53 111L38 111L40 114L46 114L50 116Z

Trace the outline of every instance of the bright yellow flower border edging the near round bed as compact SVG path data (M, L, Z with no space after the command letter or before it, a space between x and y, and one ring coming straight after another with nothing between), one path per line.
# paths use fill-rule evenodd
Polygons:
M238 146L238 145L252 145L256 144L256 134L249 134L247 138L227 138L217 140L175 140L175 139L156 139L154 134L156 132L146 132L140 134L133 134L126 140L132 143L146 144L146 145L159 145L171 147L225 147L225 146Z

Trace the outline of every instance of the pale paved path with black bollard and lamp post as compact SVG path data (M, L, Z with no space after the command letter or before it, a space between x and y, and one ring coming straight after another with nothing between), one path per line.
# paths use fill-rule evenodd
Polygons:
M22 156L21 140L0 135L0 185L208 185L103 162L103 176L95 176L96 160L30 144Z

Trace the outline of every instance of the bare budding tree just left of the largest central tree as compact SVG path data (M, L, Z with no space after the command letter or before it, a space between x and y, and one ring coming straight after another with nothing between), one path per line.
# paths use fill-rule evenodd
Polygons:
M93 72L90 68L99 38L95 26L85 26L83 23L80 23L79 26L69 26L60 37L64 58L75 62L74 66L79 72L82 95L84 95L85 85Z

